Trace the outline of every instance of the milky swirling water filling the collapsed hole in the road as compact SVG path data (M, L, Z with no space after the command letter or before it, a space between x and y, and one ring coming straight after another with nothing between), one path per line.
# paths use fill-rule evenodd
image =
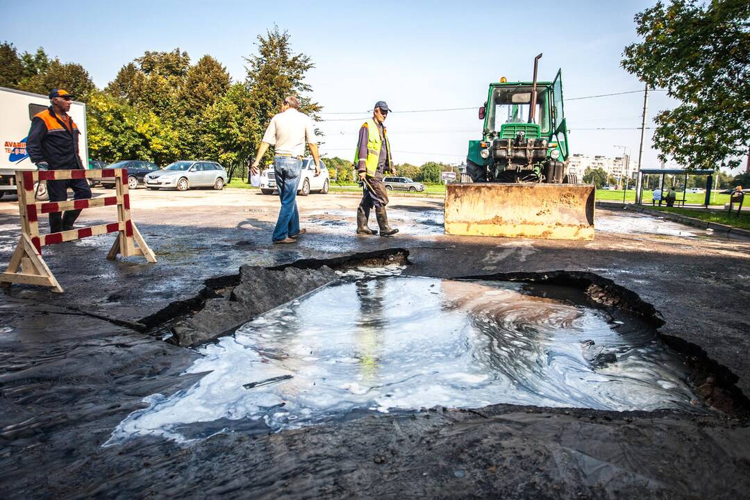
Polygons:
M586 340L595 346L584 347ZM617 361L595 367L591 349ZM126 418L110 445L436 405L695 411L685 367L652 329L564 289L517 283L350 280L278 307L199 352L187 372L206 375L186 391L148 397L148 408Z

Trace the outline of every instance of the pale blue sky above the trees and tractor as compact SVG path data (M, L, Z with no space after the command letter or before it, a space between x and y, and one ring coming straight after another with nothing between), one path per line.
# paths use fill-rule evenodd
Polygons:
M243 56L276 24L292 35L295 52L314 61L308 83L324 106L323 153L352 156L359 118L386 100L396 111L386 124L397 163L458 163L469 139L480 136L476 109L399 111L478 108L488 82L531 79L539 52L540 79L562 68L565 97L639 90L643 85L619 61L636 40L634 14L653 3L380 1L371 10L355 1L130 0L71 1L61 10L59 1L2 0L0 39L79 62L101 88L145 50L177 46L193 61L210 54L233 79L244 79ZM664 92L652 93L649 117L674 104ZM642 92L567 102L571 152L615 156L622 148L614 146L624 145L634 162L640 130L586 129L636 129L642 106ZM646 132L643 167L655 167L652 131Z

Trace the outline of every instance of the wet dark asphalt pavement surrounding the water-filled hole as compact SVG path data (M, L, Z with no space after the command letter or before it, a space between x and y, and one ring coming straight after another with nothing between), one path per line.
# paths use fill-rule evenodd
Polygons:
M746 402L742 393L750 394L750 242L619 210L597 211L598 232L589 242L453 237L440 231L440 200L398 196L389 218L402 232L357 237L357 202L344 195L299 199L308 234L280 248L270 244L274 197L245 190L138 190L133 220L157 264L136 257L107 261L112 236L45 247L65 294L13 286L0 297L0 484L9 497L747 496L750 427L738 409ZM13 210L12 203L0 205L0 262L10 258L19 235ZM110 217L107 208L96 208L82 220ZM202 289L224 286L215 278L231 280L245 264L278 266L398 247L409 250L402 274L415 280L507 280L556 270L612 280L655 307L664 321L659 342L679 353L690 375L679 375L679 363L672 373L716 409L610 412L469 400L467 409L436 403L436 411L399 407L386 414L376 406L342 421L277 433L257 433L243 427L247 419L227 418L223 426L185 428L187 437L201 438L190 445L145 436L102 446L155 394L168 400L200 384L207 376L194 367L208 362L208 351L242 340L227 337L192 351L148 334L174 310L199 308ZM329 301L330 309L341 308L340 316L356 317L345 302ZM674 389L675 379L661 380ZM242 388L242 394L284 383ZM689 401L684 394L681 400ZM523 406L529 403L547 406ZM242 425L233 427L237 422Z

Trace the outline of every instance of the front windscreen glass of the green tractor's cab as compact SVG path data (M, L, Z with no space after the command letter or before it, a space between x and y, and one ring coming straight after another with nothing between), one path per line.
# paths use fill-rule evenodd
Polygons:
M549 94L546 87L536 88L535 123L541 127L541 133L550 133ZM499 132L503 124L529 123L531 109L531 87L497 87L493 90L492 106L487 109L487 128L490 132Z

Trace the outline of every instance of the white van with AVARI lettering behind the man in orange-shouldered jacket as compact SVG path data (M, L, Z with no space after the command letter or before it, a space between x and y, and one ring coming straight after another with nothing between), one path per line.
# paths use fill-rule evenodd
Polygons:
M26 139L31 128L31 118L49 107L49 97L0 87L0 142L3 150L0 155L0 198L6 193L16 192L16 170L36 170L28 158ZM89 143L86 141L86 104L71 102L68 115L80 130L78 151L86 165L89 160ZM47 199L44 183L35 187L37 199Z

